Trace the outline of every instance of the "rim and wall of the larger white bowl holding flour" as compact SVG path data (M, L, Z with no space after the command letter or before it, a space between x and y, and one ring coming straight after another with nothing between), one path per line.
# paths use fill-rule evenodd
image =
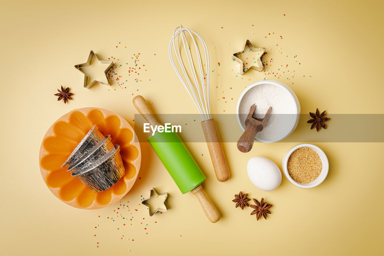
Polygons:
M245 88L245 90L242 92L242 94L240 94L240 97L237 100L237 104L236 104L236 118L237 118L237 122L238 122L240 128L244 131L245 130L245 124L242 124L242 122L240 121L240 116L239 116L240 103L242 102L242 99L243 99L244 95L250 89L252 89L255 86L259 86L260 84L273 84L273 85L276 85L276 86L279 86L279 87L283 88L285 91L287 91L291 95L292 100L295 102L295 109L296 109L296 111L295 111L295 113L293 113L294 115L293 115L293 119L292 119L291 123L289 124L289 129L287 129L287 132L284 135L282 135L281 137L278 137L277 139L273 139L273 140L262 140L262 139L259 139L259 138L255 138L255 140L257 140L258 142L263 142L263 143L278 142L278 141L283 140L286 137L288 137L296 129L296 126L297 126L297 124L299 123L299 120L300 120L300 102L299 102L299 99L297 98L295 92L293 92L292 89L289 88L284 83L281 83L281 82L275 81L275 80L265 79L265 80L257 81L255 83L251 84L250 86L247 86L247 88Z

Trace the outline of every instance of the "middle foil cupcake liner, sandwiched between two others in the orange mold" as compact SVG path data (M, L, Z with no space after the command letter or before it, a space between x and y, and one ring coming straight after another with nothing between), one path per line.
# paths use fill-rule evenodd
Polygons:
M111 135L107 135L103 143L99 147L95 147L93 152L90 153L90 155L84 159L81 160L78 164L76 164L74 167L68 169L68 172L77 172L81 169L83 170L90 170L93 169L98 165L100 160L105 160L106 157L108 157L108 154L111 151L115 151L116 149L113 146L113 143L111 142Z

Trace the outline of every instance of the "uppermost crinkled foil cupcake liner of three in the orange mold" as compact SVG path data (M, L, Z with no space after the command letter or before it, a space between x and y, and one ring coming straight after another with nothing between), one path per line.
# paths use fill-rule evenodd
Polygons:
M72 151L61 167L72 168L76 166L85 157L88 157L88 155L94 151L95 147L98 147L103 140L104 136L95 124Z

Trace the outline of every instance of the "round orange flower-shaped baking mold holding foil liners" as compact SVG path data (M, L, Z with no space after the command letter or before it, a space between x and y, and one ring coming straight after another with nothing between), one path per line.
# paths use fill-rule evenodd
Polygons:
M124 176L100 193L92 192L61 167L94 124L104 136L111 135L113 144L120 145L125 168ZM75 109L60 117L46 132L39 154L41 176L53 195L68 205L80 209L112 205L129 192L139 174L141 151L137 141L132 127L118 114L96 107Z

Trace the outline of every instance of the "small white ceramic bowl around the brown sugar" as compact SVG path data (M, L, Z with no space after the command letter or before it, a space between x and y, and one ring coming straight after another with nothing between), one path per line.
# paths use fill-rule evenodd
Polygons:
M287 168L288 159L289 159L289 157L293 151L295 151L296 149L301 148L301 147L308 147L308 148L316 151L316 153L320 157L321 164L323 165L323 168L321 169L321 173L320 173L319 177L317 177L316 180L314 180L311 183L295 182L288 173L288 168ZM325 178L327 177L328 169L329 169L328 158L325 155L325 153L323 152L323 150L321 150L319 147L312 145L312 144L300 144L300 145L297 145L297 146L289 149L287 152L285 152L285 154L283 155L283 158L281 159L281 169L283 169L283 173L284 173L285 177L294 185L301 187L301 188L313 188L313 187L316 187L317 185L319 185L321 182L323 182L325 180Z

